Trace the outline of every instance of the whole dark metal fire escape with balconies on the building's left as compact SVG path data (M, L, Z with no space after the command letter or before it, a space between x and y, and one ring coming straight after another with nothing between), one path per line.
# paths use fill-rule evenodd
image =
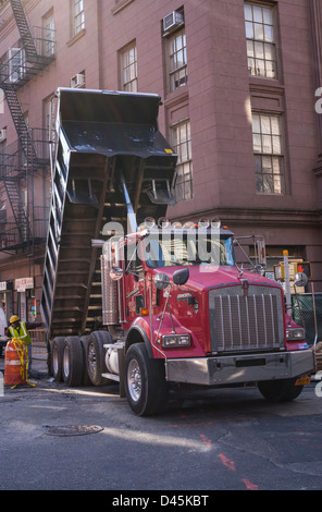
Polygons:
M35 244L38 236L33 222L34 202L28 198L26 205L23 200L22 184L28 184L32 188L35 171L49 164L49 134L48 131L46 133L45 130L30 130L27 126L17 92L54 60L53 34L44 29L44 34L34 37L21 0L11 0L10 3L21 42L18 48L9 50L8 59L0 65L0 88L3 90L17 141L0 153L0 182L4 185L12 210L12 221L5 221L2 227L4 229L0 232L0 252L28 247ZM38 237L45 239L46 233Z

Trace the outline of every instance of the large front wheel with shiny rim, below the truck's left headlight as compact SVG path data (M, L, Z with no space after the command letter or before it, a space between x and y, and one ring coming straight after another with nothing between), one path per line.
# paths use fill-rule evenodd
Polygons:
M135 414L149 416L164 411L168 402L164 363L149 358L145 343L129 346L124 379L126 398Z

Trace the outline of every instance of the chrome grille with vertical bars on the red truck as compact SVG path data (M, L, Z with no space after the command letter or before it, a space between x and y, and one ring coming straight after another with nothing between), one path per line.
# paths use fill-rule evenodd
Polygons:
M242 287L209 292L212 350L245 351L278 349L284 343L281 291L270 287Z

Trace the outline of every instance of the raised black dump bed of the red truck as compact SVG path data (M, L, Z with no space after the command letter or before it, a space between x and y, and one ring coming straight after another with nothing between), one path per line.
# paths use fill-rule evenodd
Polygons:
M58 146L47 241L42 319L49 339L101 325L100 251L109 221L165 215L176 156L158 129L158 95L58 90Z

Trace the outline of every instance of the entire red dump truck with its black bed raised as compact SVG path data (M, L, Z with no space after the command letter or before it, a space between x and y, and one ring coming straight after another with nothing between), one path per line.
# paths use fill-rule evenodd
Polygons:
M177 157L158 127L160 103L58 90L41 298L54 378L117 381L141 416L186 385L256 382L268 400L293 400L313 356L282 288L237 267L218 220L165 218Z

